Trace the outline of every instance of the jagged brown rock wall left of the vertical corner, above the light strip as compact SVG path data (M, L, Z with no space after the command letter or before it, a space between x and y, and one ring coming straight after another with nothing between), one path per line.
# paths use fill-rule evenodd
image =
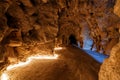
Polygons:
M52 53L58 5L47 0L0 0L0 62Z

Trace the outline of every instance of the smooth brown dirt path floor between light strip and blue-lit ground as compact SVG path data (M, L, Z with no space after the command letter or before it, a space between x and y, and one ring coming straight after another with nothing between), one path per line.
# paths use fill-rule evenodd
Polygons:
M54 60L33 60L8 71L10 80L98 80L100 64L84 51L67 47Z

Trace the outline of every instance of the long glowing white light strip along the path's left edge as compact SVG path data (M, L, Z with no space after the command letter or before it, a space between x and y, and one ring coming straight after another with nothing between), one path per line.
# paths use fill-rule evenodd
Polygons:
M9 71L11 69L14 69L16 67L20 67L20 66L24 66L29 64L33 59L58 59L59 55L54 54L54 55L34 55L34 56L30 56L26 59L26 62L18 62L17 64L13 64L13 65L9 65L6 68L6 71ZM1 75L1 79L0 80L9 80L9 77L6 73L6 71L4 71Z

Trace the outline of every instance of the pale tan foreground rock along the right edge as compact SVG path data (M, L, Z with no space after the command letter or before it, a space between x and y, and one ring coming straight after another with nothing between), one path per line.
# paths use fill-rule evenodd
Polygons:
M117 0L114 6L114 13L118 16L120 16L119 9L120 0ZM120 80L120 41L112 48L110 57L102 64L99 72L99 80Z

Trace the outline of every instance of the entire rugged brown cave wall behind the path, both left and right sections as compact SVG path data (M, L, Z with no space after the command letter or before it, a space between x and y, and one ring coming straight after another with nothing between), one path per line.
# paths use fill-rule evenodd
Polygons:
M0 0L0 62L69 45L109 54L118 43L116 0ZM55 43L55 44L54 44ZM9 56L9 57L8 57Z

